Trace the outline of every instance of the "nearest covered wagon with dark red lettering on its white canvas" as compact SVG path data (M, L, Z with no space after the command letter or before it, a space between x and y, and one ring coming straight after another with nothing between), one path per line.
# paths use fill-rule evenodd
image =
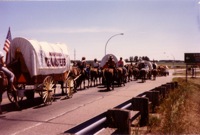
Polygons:
M49 103L56 84L64 82L68 76L70 57L65 44L17 37L11 42L7 64L15 74L21 96L27 90L38 92L44 103ZM27 98L32 97L28 95Z

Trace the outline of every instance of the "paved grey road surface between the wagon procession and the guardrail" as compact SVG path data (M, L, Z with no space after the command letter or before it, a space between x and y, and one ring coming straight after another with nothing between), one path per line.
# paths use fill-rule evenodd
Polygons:
M138 94L171 82L172 75L158 77L146 83L132 81L124 87L105 91L95 87L78 91L73 98L56 100L52 105L43 106L39 98L23 101L22 111L3 101L4 112L0 115L0 134L2 135L55 135L113 108ZM12 109L8 109L12 108Z

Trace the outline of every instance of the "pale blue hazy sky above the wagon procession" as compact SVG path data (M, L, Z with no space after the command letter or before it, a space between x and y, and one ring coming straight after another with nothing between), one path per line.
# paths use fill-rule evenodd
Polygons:
M13 39L66 44L71 60L101 60L105 52L124 59L184 60L184 53L200 53L198 2L0 1L0 51L10 27Z

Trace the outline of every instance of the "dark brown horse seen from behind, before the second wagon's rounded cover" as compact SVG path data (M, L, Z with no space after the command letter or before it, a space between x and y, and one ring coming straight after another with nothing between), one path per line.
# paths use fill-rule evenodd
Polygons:
M106 83L107 90L114 90L114 69L113 68L104 68L103 77Z

